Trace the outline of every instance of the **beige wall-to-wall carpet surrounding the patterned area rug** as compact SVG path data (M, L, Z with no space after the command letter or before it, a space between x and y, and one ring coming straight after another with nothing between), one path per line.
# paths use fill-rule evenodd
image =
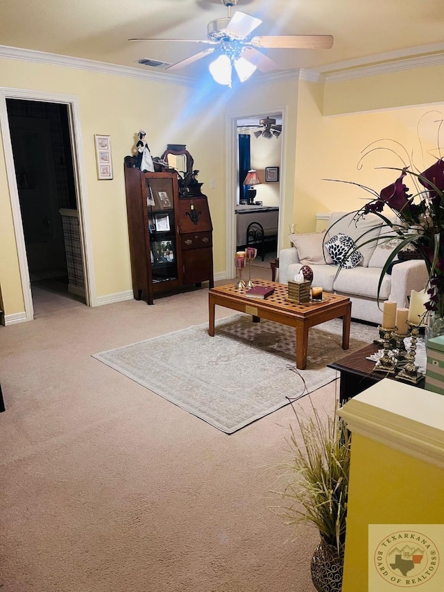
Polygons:
M205 323L207 290L33 296L0 327L1 591L314 592L318 533L269 509L291 406L228 437L92 357ZM311 396L328 413L335 386Z

